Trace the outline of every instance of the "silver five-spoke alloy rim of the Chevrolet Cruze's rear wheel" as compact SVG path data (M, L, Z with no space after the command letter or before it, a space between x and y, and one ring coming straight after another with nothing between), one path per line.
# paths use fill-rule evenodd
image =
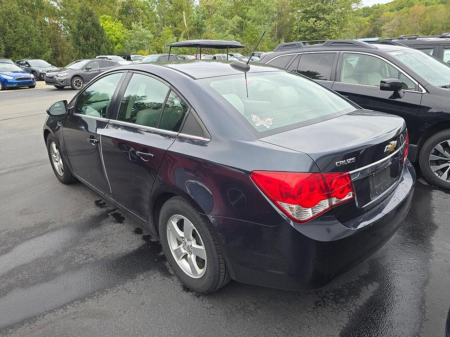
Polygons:
M202 277L206 250L194 224L182 215L172 216L167 223L167 240L180 269L192 278Z

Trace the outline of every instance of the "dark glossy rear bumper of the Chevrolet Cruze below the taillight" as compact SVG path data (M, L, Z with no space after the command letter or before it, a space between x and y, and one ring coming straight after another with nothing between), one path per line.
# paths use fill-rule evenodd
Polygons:
M362 220L355 219L360 222L356 226L344 226L328 212L295 226L288 220L263 226L209 218L217 228L236 281L288 290L318 288L374 253L394 235L410 209L414 183L415 171L408 161L396 189Z

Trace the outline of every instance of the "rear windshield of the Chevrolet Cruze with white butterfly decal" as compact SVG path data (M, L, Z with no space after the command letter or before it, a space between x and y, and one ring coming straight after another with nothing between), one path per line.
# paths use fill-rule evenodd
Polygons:
M354 111L334 92L303 76L268 71L198 80L239 116L250 130L274 134ZM259 135L258 135L259 136Z

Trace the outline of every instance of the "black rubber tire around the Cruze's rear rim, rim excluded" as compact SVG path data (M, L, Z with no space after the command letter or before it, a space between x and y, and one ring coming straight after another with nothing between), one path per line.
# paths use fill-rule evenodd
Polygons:
M167 223L173 215L182 215L189 219L197 229L206 251L206 271L202 277L194 279L180 269L169 248L167 240ZM159 217L159 235L162 249L172 270L180 278L181 282L190 289L199 293L208 293L216 290L219 275L219 262L216 247L207 229L207 222L184 199L175 197L167 201L161 209Z

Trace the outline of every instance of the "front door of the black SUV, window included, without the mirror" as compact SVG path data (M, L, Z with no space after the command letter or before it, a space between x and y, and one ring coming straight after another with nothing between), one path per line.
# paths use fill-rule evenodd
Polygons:
M403 83L403 98L393 98L392 92L379 89L379 82L385 78ZM340 54L332 89L364 109L400 116L410 128L414 127L423 93L421 86L395 64L357 51Z

